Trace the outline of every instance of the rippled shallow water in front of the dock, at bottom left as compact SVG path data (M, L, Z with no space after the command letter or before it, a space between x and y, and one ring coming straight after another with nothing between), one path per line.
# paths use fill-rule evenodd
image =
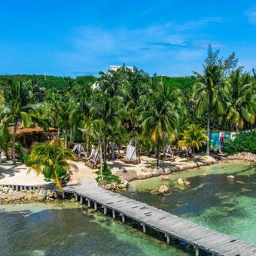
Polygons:
M76 203L0 206L0 255L189 255Z

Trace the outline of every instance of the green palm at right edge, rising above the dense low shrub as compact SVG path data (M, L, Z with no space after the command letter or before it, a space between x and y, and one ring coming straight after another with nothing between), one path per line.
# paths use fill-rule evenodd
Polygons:
M231 72L224 93L227 99L227 121L235 127L242 129L244 120L255 123L256 87L251 83L248 73L242 74L241 69Z

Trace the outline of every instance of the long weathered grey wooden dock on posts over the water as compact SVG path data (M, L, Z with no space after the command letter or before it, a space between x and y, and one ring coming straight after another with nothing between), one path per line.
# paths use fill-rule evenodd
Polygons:
M143 232L151 227L165 234L167 243L171 237L187 242L194 246L196 255L199 255L200 250L212 255L256 255L256 245L251 242L210 230L146 203L104 190L96 186L96 181L88 180L79 185L67 186L64 191L74 194L76 200L87 203L89 207L102 207L105 215L111 213L113 218L120 215L123 222L125 218L139 222Z

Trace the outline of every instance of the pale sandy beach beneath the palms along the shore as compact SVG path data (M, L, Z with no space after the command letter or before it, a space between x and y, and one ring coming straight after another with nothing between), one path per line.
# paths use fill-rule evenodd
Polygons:
M136 179L151 178L158 175L167 175L172 172L178 172L185 169L193 169L199 166L206 166L217 163L213 157L197 156L195 160L175 157L175 161L164 161L160 163L160 168L156 168L156 159L153 157L140 157L141 163L128 164L122 160L108 161L108 166L113 174L118 175L127 181ZM71 162L77 168L71 167L72 175L69 184L78 184L79 181L96 178L96 169L90 169L84 162ZM0 165L0 184L47 184L43 175L37 175L36 172L28 172L28 167L22 163L13 165L11 161L3 161Z

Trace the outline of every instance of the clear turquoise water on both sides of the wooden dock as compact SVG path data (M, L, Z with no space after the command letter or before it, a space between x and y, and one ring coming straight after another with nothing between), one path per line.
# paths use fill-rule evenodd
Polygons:
M206 176L203 177L202 174ZM234 180L227 175L234 175ZM233 161L133 181L127 197L157 206L203 226L256 242L256 168ZM179 187L178 178L190 181ZM162 184L166 197L149 191ZM166 245L157 233L142 233L77 203L0 206L0 255L192 255L184 245Z

